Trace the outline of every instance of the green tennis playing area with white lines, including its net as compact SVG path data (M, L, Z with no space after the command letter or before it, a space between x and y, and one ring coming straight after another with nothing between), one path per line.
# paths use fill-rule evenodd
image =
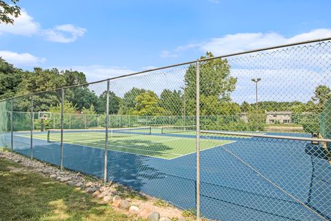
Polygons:
M106 130L64 130L63 142L77 144L92 148L105 148ZM194 131L183 127L172 128L112 128L108 131L108 150L123 153L132 153L150 157L159 157L172 160L196 151ZM172 135L179 134L179 137ZM21 135L30 137L30 134ZM185 136L185 137L184 137ZM50 130L47 133L37 133L34 139L48 140L48 142L60 142L61 131ZM201 151L216 148L224 144L230 144L231 140L206 140L201 139Z

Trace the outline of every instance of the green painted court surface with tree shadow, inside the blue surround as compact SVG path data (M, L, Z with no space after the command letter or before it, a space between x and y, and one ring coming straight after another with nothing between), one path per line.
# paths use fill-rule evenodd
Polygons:
M52 133L49 137L50 142L59 142L60 133ZM30 137L30 135L21 135ZM47 140L47 133L34 133L34 139ZM72 133L63 133L63 142L66 144L77 144L81 146L90 146L94 148L105 148L104 132L84 132L77 131ZM229 144L233 141L227 140L200 140L201 151L209 148L215 148L223 144ZM194 137L175 137L168 135L141 135L128 133L125 135L113 135L110 133L108 150L159 157L164 159L174 159L183 155L194 153L196 150L196 140Z

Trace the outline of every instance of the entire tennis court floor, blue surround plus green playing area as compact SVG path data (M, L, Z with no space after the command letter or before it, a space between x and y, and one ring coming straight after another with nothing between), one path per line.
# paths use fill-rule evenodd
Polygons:
M102 177L104 135L104 130L65 130L64 166ZM109 139L109 180L163 198L183 209L194 207L195 165L192 162L196 155L192 131L161 133L161 128L136 128L125 132L117 129L109 133ZM33 140L35 158L59 164L58 131L36 132ZM15 134L14 142L16 146L26 143L21 145L22 148L17 148L17 152L29 155L29 134ZM239 164L225 148L268 175L270 180L286 188L295 198L309 206L317 206L321 214L328 217L329 212L323 211L323 208L330 205L316 201L325 195L325 185L320 186L324 181L314 172L315 165L321 162L312 164L311 156L305 153L307 142L289 143L287 140L229 135L201 135L200 142L203 147L201 203L208 205L202 210L203 214L208 214L208 218L319 220L296 200L265 182L247 166ZM277 148L278 154L274 154L274 148ZM211 157L214 160L208 160Z

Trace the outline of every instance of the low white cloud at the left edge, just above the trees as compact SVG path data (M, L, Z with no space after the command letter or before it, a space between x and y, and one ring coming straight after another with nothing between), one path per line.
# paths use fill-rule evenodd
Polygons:
M14 66L38 66L46 61L43 57L36 57L29 53L17 53L8 50L0 50L0 57Z

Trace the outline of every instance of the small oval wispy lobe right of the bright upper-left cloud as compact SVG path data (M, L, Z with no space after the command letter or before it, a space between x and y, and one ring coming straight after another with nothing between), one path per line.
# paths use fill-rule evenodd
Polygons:
M46 36L47 41L70 43L76 41L78 37L82 37L85 32L85 28L73 26L72 24L65 24L44 30L43 35Z

